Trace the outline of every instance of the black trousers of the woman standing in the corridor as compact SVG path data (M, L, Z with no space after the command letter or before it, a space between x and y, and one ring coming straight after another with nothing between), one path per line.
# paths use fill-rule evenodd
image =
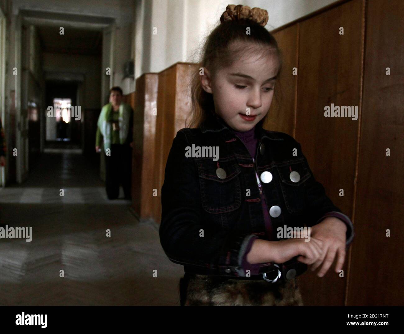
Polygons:
M112 144L111 155L105 154L105 189L108 199L117 199L119 187L124 188L125 199L130 199L132 176L132 148L128 144Z

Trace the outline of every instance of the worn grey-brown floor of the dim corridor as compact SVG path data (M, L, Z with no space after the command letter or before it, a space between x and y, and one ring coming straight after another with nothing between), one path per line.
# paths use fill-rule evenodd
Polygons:
M74 150L48 151L23 184L0 189L0 224L32 227L30 242L0 239L0 305L179 305L183 267L158 225L136 220L122 188L109 201L98 174Z

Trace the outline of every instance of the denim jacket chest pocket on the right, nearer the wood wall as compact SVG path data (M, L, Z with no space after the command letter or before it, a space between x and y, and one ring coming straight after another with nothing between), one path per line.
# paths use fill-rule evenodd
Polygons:
M311 173L303 158L285 161L276 166L285 205L291 214L302 214L306 207L307 179Z

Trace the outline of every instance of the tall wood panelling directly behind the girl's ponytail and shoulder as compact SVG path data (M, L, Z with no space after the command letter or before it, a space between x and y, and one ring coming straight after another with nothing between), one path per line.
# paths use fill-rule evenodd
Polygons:
M154 220L159 224L161 221L161 187L164 182L168 153L177 131L185 127L185 119L191 106L189 84L194 70L196 70L196 64L180 62L159 73L154 156L154 188L158 193L158 196L154 197Z

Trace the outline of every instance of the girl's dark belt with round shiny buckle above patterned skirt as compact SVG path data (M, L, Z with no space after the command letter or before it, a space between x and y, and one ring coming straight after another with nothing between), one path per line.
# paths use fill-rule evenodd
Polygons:
M250 277L227 277L227 276L217 276L220 279L243 279L243 280L252 280L252 281L267 281L272 284L284 284L286 281L294 279L296 276L299 276L307 271L307 264L297 261L297 256L290 259L287 262L278 264L274 263L273 266L266 271L265 273L261 273L259 275L252 275ZM198 274L196 272L191 273L189 271L185 271L185 274ZM205 275L205 274L200 274ZM216 276L216 275L213 275Z

